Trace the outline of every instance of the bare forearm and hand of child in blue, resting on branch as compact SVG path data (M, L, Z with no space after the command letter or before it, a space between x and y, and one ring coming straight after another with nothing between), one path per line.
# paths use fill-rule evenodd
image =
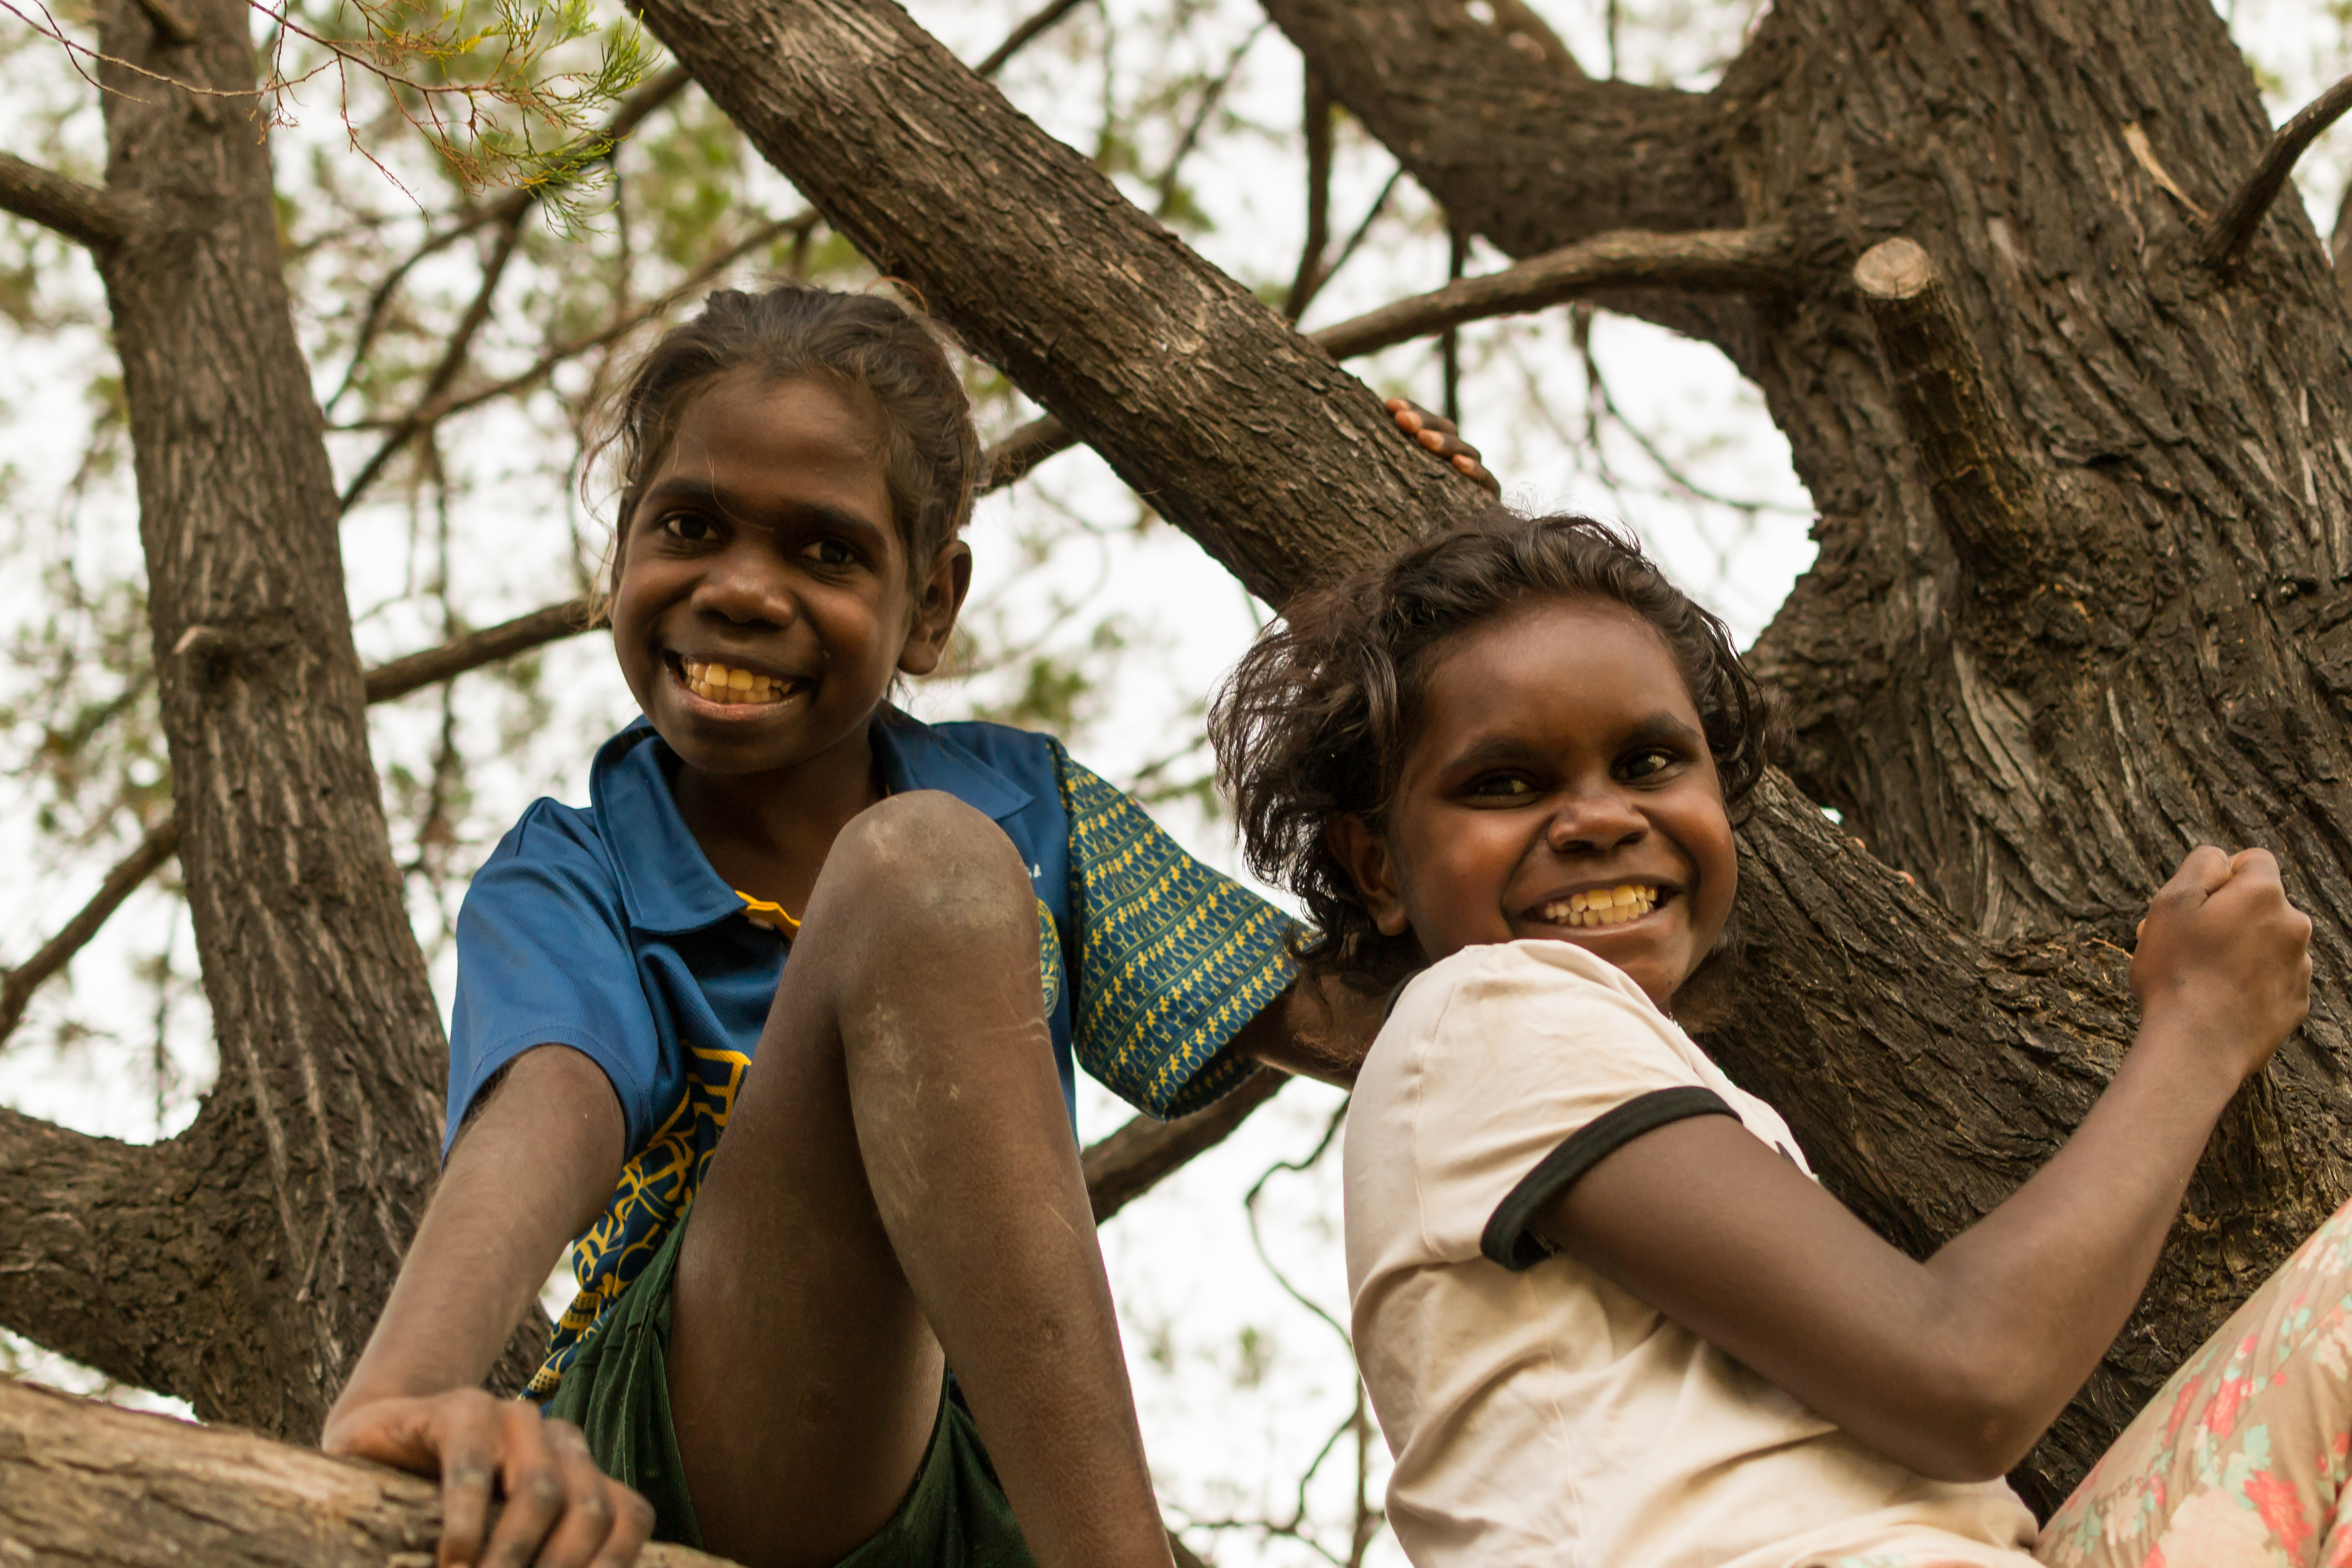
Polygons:
M652 1509L581 1434L482 1392L499 1349L621 1175L621 1103L579 1051L515 1058L449 1152L320 1448L442 1479L440 1566L621 1568ZM485 1540L492 1488L508 1507Z

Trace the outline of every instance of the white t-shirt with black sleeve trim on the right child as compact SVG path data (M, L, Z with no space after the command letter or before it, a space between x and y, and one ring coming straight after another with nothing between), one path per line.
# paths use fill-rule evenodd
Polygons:
M2032 1568L2004 1483L1929 1481L1668 1321L1534 1211L1656 1126L1740 1093L1623 971L1468 947L1404 987L1348 1112L1355 1354L1416 1568ZM1806 1171L1811 1175L1811 1171Z

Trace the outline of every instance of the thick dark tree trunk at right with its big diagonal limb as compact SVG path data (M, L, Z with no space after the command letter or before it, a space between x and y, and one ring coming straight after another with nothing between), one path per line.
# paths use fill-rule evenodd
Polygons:
M2129 1039L2131 919L2187 844L2277 846L2317 914L2312 1027L2232 1107L2147 1307L2032 1462L2049 1502L2347 1185L2352 755L2321 705L2352 696L2343 308L2293 214L2246 280L2197 273L2150 172L2225 197L2263 134L2244 63L2190 0L1795 0L1689 96L1531 66L1456 0L1268 9L1515 254L1632 223L1802 237L1748 303L1623 303L1759 381L1823 505L1820 564L1759 656L1804 790L1924 891L1776 780L1743 832L1740 957L1705 997L1726 1065L1879 1229L1936 1246L2072 1128ZM644 14L828 221L1261 595L1477 505L1399 484L1369 397L1294 376L1310 350L1270 310L887 0ZM1661 169L1670 209L1644 195ZM1851 282L1896 233L1945 270L1983 367L1962 402L2013 444L2023 524L1969 512L1983 487L1931 470L1952 442L1905 423L1945 404L1886 364L1936 350L1882 355L1882 327L1875 327ZM1315 522L1254 487L1279 473L1315 475Z

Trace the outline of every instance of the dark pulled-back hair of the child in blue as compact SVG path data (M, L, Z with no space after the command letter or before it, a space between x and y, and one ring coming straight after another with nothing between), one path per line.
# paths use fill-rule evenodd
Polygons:
M882 294L781 284L764 294L717 289L701 313L661 334L612 402L595 451L621 470L621 510L607 597L621 583L621 538L637 496L677 440L694 395L736 369L774 381L816 378L861 390L882 411L882 468L891 517L917 581L971 522L981 437L941 329Z

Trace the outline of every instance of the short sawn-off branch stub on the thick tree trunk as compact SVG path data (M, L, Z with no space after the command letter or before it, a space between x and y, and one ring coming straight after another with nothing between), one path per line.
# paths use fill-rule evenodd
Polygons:
M1980 578L2011 576L2039 552L2049 501L1933 259L1912 240L1884 240L1863 252L1853 282L1952 548Z

